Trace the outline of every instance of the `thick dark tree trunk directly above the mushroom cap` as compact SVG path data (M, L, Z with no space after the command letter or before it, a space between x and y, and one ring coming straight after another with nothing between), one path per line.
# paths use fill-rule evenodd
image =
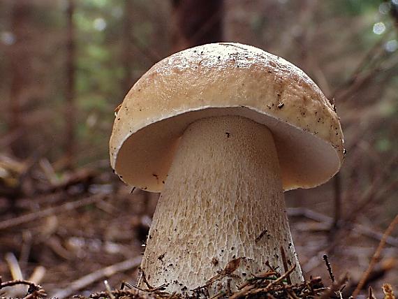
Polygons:
M223 0L172 0L172 50L223 39Z

